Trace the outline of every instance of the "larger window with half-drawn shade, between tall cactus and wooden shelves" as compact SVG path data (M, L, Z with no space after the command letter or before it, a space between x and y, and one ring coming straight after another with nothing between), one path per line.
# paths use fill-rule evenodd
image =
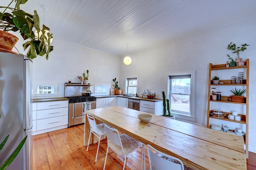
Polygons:
M194 71L168 75L167 98L172 114L194 121Z

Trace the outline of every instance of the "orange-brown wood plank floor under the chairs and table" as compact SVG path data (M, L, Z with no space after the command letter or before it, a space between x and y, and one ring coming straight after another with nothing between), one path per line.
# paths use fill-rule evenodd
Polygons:
M107 141L101 140L97 162L97 144L91 144L88 152L84 146L84 125L55 130L33 136L33 170L102 170ZM139 170L141 149L128 155L126 170ZM122 169L123 158L111 149L108 152L106 170ZM146 153L146 169L149 169ZM256 170L256 154L249 152L247 169Z

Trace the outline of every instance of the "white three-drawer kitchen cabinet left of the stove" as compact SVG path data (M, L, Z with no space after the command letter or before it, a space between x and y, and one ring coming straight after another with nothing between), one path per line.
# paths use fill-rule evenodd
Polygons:
M36 116L33 115L33 135L68 127L68 100L34 104L37 109Z

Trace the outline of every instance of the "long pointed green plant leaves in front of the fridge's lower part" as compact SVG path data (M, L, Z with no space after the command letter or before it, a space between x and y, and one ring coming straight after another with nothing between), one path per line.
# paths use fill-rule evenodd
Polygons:
M2 113L0 114L0 118L1 118ZM6 144L8 138L9 138L8 134L6 136L6 138L4 138L4 140L2 141L2 143L0 144L0 151L2 150L2 148L4 147L4 145ZM18 153L20 152L22 146L24 145L26 139L28 136L26 136L21 142L20 144L17 146L17 148L12 152L12 154L9 156L9 158L7 158L7 160L4 161L4 163L0 166L0 170L5 170L6 168L8 168L8 166L12 163L12 161L16 158L16 156L18 155Z

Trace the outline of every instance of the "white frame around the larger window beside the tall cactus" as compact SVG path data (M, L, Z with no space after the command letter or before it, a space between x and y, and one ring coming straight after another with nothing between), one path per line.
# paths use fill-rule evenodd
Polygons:
M167 77L167 96L166 98L169 99L169 102L171 103L171 97L170 97L170 88L171 88L171 79L170 76L179 76L179 75L190 75L190 115L184 115L182 113L176 113L171 111L173 115L177 118L186 119L189 121L196 121L195 117L195 70L192 71L171 71L166 73Z

